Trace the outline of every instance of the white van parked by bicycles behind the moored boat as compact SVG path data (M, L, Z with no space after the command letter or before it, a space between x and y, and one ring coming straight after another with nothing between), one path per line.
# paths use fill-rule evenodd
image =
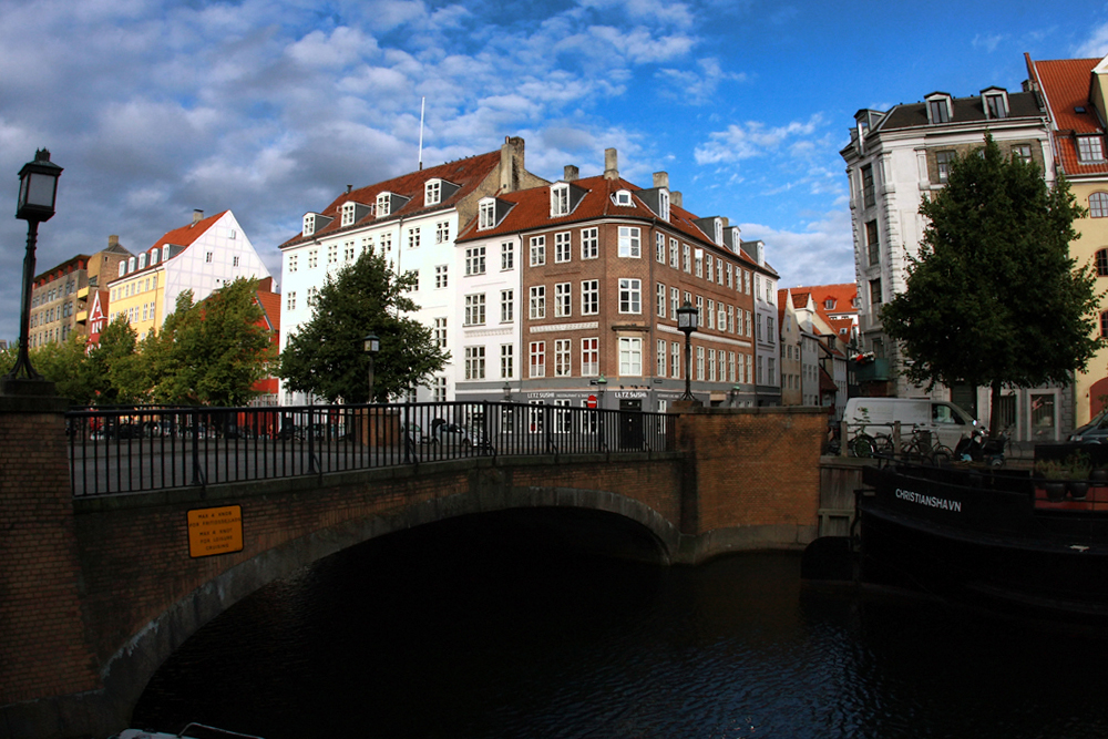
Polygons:
M951 449L977 425L974 417L948 400L930 398L851 398L842 420L848 440L863 432L892 435L893 425L900 421L902 440L907 441L919 429L930 431L933 440Z

